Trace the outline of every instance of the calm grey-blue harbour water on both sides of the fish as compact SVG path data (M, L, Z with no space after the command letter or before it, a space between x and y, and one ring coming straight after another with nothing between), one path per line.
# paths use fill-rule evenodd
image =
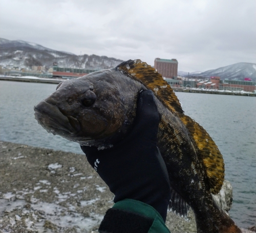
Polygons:
M0 81L0 140L82 153L77 143L48 134L33 107L57 85ZM233 186L231 218L256 225L256 98L176 93L185 114L200 123L221 150Z

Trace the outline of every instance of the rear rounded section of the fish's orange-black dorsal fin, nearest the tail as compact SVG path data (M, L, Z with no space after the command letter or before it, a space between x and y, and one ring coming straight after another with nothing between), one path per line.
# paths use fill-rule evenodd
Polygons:
M206 130L195 120L184 114L179 115L179 117L196 142L199 150L199 159L203 162L207 174L210 192L218 194L223 185L225 175L224 160L218 146Z

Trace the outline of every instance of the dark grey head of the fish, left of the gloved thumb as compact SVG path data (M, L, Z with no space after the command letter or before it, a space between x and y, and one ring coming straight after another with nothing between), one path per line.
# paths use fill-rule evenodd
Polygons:
M125 80L110 69L63 81L34 107L35 119L49 133L80 145L110 144L108 139L124 134L135 116L139 90L129 91L133 85Z

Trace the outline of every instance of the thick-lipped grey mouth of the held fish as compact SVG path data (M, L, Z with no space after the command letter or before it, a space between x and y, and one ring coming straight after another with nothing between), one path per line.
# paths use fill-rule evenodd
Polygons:
M35 119L49 133L58 135L75 135L80 130L78 120L72 116L65 116L57 106L46 101L39 102L34 107Z

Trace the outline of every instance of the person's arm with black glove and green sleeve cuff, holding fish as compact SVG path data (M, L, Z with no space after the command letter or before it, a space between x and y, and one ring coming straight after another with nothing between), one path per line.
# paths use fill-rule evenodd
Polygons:
M115 194L100 232L169 232L165 226L170 198L167 169L157 147L160 120L154 94L139 94L131 132L112 148L81 146L88 162Z

